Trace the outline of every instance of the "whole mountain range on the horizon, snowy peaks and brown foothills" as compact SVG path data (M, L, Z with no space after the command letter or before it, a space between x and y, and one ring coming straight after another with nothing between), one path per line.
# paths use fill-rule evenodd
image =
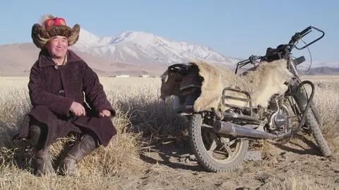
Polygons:
M236 63L242 60L226 57L201 44L174 41L152 33L131 30L119 32L112 37L99 37L81 29L78 42L70 49L102 76L121 73L160 75L171 64L189 61L206 61L234 69ZM32 42L0 45L0 75L27 75L39 51ZM339 65L335 61L313 62L313 66L330 68ZM302 65L307 66L307 62ZM329 72L328 69L314 72L321 71Z

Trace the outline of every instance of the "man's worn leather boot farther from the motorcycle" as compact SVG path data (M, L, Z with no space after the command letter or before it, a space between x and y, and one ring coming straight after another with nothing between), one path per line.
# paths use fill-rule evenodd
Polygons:
M49 155L49 148L41 147L41 129L40 126L31 125L30 126L30 141L32 142L35 152L35 165L36 165L36 174L41 175L56 175L52 159Z

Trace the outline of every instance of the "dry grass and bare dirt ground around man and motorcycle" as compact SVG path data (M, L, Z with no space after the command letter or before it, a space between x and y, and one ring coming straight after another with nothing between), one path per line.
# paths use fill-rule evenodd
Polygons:
M210 173L189 159L187 123L160 100L160 78L100 78L117 110L117 136L78 163L81 177L35 177L26 141L13 142L30 109L27 77L0 78L0 189L339 189L339 77L305 76L333 156L323 158L314 139L295 136L285 146L263 143L263 160L232 173ZM51 148L57 160L64 143Z

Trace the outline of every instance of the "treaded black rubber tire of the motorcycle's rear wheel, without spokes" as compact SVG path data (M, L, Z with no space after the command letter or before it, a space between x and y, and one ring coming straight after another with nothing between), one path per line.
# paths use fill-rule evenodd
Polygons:
M243 138L237 140L239 141L239 148L234 152L235 155L230 162L218 162L218 160L215 160L213 156L208 153L203 143L201 133L202 124L202 115L193 114L189 126L189 143L199 165L209 172L231 172L242 165L249 147L249 140Z

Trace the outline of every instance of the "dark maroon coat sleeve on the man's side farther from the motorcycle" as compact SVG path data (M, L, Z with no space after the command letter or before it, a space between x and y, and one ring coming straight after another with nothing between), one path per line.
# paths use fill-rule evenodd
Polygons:
M45 106L56 114L69 116L73 100L47 92L42 69L36 65L30 70L28 90L32 106Z

